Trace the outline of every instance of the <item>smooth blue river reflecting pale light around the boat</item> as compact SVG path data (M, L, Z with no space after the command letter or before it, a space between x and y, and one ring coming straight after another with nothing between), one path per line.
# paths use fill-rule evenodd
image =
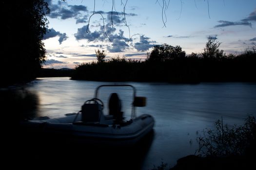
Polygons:
M68 77L38 78L26 86L37 94L36 116L63 117L76 113L86 100L94 97L98 85L111 82L74 81ZM174 166L177 159L194 154L197 137L205 128L214 128L217 119L224 124L242 124L247 114L256 116L256 83L200 83L197 85L137 83L137 96L147 98L146 107L136 108L137 116L151 114L156 124L154 138L143 161L143 169L152 169L161 162ZM105 104L113 88L101 88L99 99ZM114 88L122 100L122 110L130 119L132 90Z

